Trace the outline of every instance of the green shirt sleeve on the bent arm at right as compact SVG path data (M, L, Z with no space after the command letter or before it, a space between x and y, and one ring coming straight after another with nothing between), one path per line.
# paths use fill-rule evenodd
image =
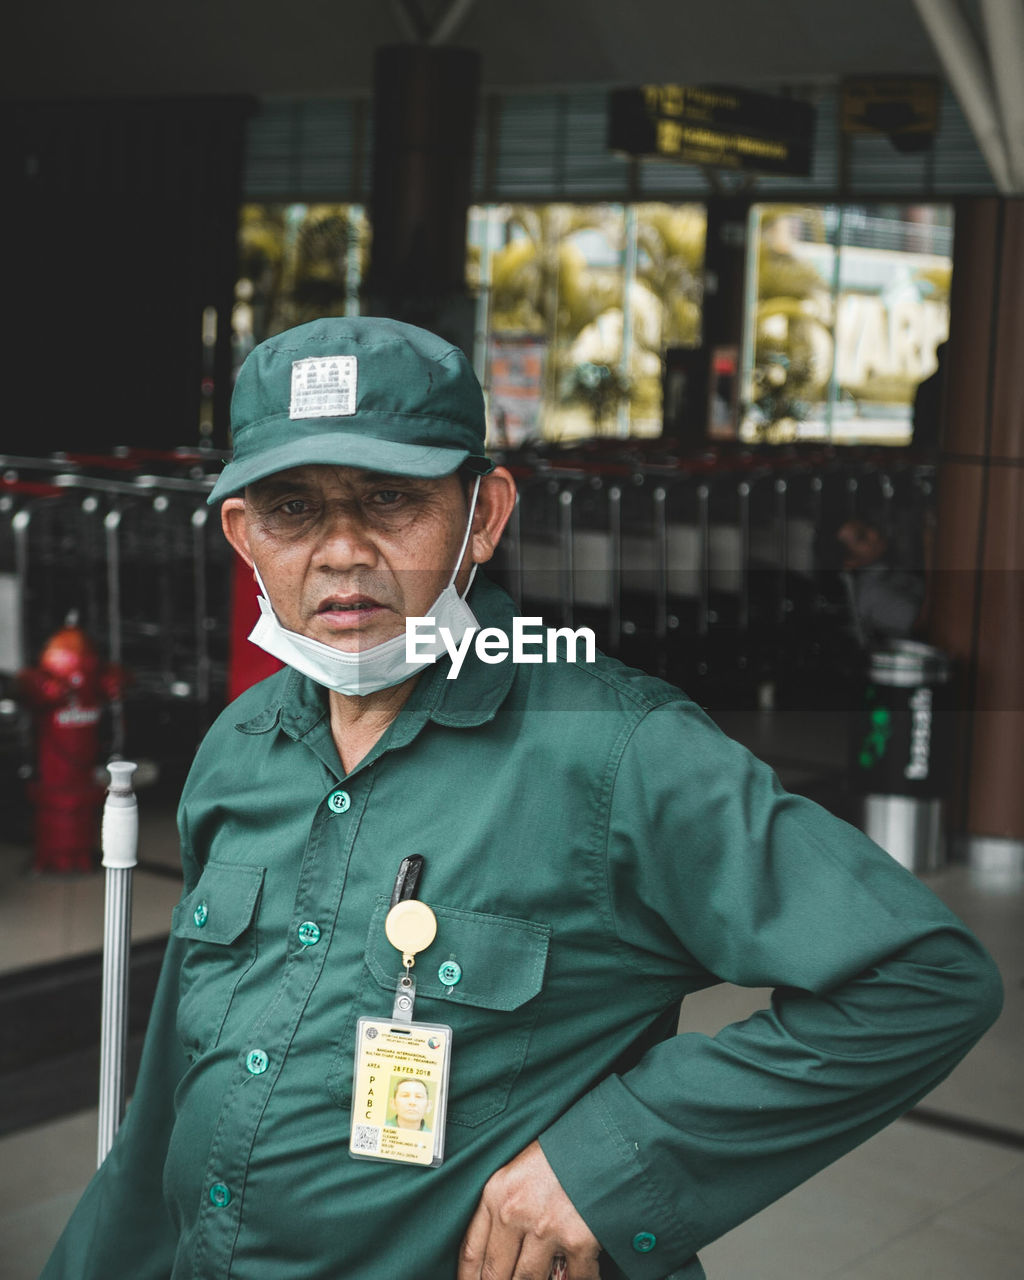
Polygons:
M689 989L774 988L771 1009L655 1046L540 1137L626 1275L700 1275L699 1248L934 1088L997 1016L1001 982L928 888L692 704L650 712L622 750L605 854L637 969L675 954Z

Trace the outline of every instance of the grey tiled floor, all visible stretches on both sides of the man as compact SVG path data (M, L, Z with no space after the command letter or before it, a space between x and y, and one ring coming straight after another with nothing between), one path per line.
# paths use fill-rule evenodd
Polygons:
M808 760L814 768L841 764L841 733L826 717L748 717L727 727L772 760L791 786L801 769L810 768ZM141 813L141 858L173 865L169 808L148 803L143 794ZM0 970L100 945L101 877L67 882L32 877L26 873L28 861L26 850L0 846ZM1004 974L1006 1007L925 1106L940 1119L1001 1130L1002 1140L897 1121L705 1249L710 1280L1024 1275L1024 879L952 865L928 882L992 951ZM140 870L136 937L166 932L177 896L173 877ZM764 998L764 992L732 987L701 992L687 1001L682 1025L713 1033ZM91 1174L95 1142L95 1112L0 1142L0 1280L37 1276Z

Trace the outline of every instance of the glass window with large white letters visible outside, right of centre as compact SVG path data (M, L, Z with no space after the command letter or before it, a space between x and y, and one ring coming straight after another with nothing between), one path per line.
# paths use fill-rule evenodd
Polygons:
M749 440L908 444L950 323L948 205L755 205Z

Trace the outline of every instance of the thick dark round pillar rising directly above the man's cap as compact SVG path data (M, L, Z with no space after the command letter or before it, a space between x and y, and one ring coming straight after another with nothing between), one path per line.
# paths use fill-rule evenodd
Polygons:
M466 211L479 55L394 45L374 73L374 238L364 310L433 329L472 356Z

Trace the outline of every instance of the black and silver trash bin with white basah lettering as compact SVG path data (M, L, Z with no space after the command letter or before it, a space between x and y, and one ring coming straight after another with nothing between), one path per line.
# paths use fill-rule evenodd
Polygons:
M863 829L911 872L936 870L946 860L951 676L941 649L892 640L869 657L856 719Z

